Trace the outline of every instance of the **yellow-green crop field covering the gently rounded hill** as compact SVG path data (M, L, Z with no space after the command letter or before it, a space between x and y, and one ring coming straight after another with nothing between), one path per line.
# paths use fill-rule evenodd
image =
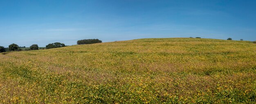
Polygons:
M0 103L256 103L256 44L136 39L0 54Z

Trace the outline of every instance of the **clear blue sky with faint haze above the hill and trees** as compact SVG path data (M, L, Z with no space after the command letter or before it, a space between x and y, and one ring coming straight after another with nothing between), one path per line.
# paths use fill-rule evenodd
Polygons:
M256 40L256 0L0 0L0 46L81 39Z

